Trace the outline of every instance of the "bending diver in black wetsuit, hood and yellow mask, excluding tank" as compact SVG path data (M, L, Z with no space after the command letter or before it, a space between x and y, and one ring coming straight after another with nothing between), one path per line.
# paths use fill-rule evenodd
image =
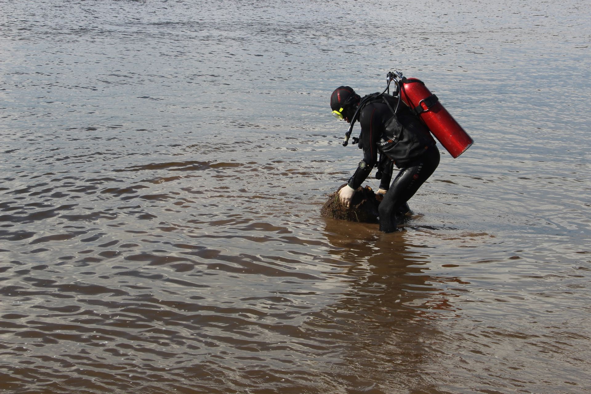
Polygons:
M379 164L378 193L384 195L379 204L379 229L391 233L397 229L397 211L408 211L407 201L439 165L439 149L418 116L397 97L383 93L362 99L351 87L340 86L330 96L330 108L336 118L348 123L359 119L361 124L359 148L363 149L363 159L340 189L339 199L349 207L355 190ZM379 163L378 154L382 156ZM393 165L400 171L389 184Z

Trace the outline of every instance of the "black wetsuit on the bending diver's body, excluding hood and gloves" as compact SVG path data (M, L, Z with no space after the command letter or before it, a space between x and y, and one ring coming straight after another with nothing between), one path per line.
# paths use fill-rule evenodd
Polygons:
M361 109L363 160L349 179L349 186L358 188L374 168L378 151L401 169L389 185L392 172L387 171L387 163L381 166L379 187L388 192L379 204L379 229L387 233L396 230L396 209L414 196L439 165L439 149L429 129L404 103L394 115L397 101L396 97L382 95Z

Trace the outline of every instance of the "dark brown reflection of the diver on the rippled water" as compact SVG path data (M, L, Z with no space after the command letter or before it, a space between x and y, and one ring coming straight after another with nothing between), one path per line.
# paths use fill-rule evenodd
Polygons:
M427 373L437 359L430 341L442 334L436 321L460 317L444 286L467 282L429 275L428 254L403 235L385 236L375 229L346 233L335 220L328 220L324 231L336 247L333 253L346 264L340 276L349 287L308 324L343 337L335 364L354 379L342 389L436 390Z

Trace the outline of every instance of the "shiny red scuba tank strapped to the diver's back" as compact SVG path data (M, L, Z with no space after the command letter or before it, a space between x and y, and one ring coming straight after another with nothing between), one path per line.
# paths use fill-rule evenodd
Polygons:
M425 122L453 158L461 155L474 143L423 81L403 78L400 80L400 96L402 101Z

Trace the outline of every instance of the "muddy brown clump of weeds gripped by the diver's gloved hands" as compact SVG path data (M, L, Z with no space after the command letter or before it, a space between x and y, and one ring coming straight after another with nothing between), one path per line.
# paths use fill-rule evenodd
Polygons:
M346 183L341 185L337 191L329 194L320 214L323 217L349 220L350 222L378 223L378 207L379 202L382 201L382 195L374 193L369 186L360 186L353 194L353 200L348 208L339 201L339 190L346 185Z

